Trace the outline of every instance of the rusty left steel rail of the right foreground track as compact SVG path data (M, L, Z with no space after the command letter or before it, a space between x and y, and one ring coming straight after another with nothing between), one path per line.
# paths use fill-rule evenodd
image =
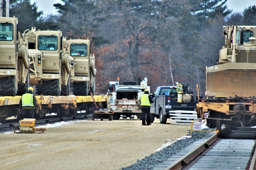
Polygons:
M187 165L194 158L196 158L198 155L200 155L201 152L206 150L212 143L214 143L216 140L218 140L220 133L223 134L227 130L228 130L228 128L226 128L226 127L221 129L221 132L217 132L216 134L211 136L205 142L201 143L195 149L191 150L189 153L184 155L182 158L178 159L176 162L174 162L173 164L168 166L166 169L182 169L183 166Z

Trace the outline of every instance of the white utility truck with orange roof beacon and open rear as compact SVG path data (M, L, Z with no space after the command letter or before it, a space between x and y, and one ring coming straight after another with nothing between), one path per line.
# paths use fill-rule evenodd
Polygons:
M137 115L137 119L141 119L140 97L146 88L150 90L147 77L141 85L136 85L136 82L123 82L123 85L119 85L119 81L109 82L107 108L113 110L113 119L118 120L121 115Z

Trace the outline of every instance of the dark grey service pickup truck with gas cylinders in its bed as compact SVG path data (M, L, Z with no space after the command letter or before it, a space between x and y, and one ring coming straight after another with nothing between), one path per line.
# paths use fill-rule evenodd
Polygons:
M176 86L159 86L153 94L150 94L154 100L151 103L151 123L155 117L160 119L160 123L166 124L167 118L170 118L169 111L186 110L195 111L197 104L197 96L193 95L193 91L188 84L183 84L182 102L178 102L178 92Z

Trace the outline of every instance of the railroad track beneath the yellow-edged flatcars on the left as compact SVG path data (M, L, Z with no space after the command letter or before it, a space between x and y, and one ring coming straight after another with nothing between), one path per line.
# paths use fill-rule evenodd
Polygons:
M68 116L68 117L51 117L47 119L39 119L35 121L36 123L45 123L45 122L56 122L56 121L63 121L63 120L72 120L72 119L81 119L81 118L88 118L92 117L92 114L83 114L83 115L73 115L73 116ZM5 127L13 127L15 124L19 124L19 122L16 122L17 119L13 119L14 121L9 120L8 123L3 123L0 124L0 128L5 128Z

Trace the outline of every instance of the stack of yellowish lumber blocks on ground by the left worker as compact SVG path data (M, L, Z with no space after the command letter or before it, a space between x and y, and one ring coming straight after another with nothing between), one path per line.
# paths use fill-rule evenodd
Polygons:
M15 125L14 133L44 133L46 128L35 128L36 119L23 119Z

